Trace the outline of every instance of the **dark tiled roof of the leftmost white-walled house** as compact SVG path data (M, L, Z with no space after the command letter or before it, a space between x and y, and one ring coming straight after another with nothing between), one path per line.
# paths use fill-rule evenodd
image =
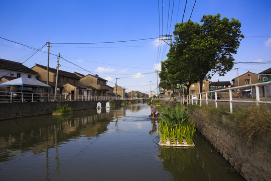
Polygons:
M38 72L23 65L23 63L14 62L14 61L10 61L10 60L4 60L4 59L0 59L0 68L7 69L7 70L14 70L14 71L21 71L21 72L26 72L26 73L38 74Z

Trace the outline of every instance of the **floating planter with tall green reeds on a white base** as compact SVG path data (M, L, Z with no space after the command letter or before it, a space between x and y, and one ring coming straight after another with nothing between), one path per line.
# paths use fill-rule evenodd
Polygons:
M193 136L196 129L193 120L188 117L188 110L184 106L169 108L165 105L162 111L157 127L159 145L194 147Z

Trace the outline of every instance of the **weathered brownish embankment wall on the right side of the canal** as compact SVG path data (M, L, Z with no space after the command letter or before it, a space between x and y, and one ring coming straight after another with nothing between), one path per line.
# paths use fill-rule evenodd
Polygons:
M197 130L246 180L271 180L271 133L247 144L229 117L192 106L188 109Z

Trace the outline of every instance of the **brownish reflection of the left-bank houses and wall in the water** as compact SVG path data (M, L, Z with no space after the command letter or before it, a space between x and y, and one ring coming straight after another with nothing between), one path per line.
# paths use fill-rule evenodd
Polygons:
M99 109L101 111L101 109ZM0 162L18 153L32 151L34 154L63 144L80 136L93 138L107 130L109 118L122 112L96 113L84 110L62 116L41 116L0 122Z

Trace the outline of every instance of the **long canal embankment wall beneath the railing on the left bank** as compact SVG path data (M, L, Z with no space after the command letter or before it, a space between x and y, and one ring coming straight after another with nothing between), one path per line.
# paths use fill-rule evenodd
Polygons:
M40 116L52 114L56 110L57 104L60 106L67 104L72 110L83 110L96 108L97 103L101 103L104 108L108 101L65 101L65 102L14 102L0 104L0 121L7 119L24 118L30 116ZM114 101L115 105L120 105L122 100ZM127 101L128 102L128 101Z

